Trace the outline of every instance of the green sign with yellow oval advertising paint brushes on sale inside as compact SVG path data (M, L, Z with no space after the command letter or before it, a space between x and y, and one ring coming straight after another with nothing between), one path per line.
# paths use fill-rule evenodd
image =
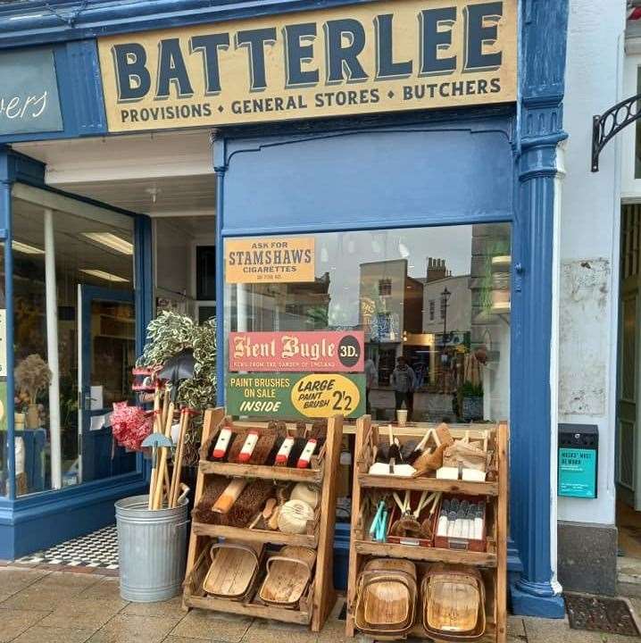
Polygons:
M363 373L229 373L226 392L231 415L269 414L292 420L365 413Z

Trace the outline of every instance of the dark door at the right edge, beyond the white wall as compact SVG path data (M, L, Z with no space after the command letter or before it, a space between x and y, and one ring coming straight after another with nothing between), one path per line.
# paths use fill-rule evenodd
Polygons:
M620 341L617 400L617 497L641 511L638 436L639 363L639 235L641 209L625 205L621 211Z

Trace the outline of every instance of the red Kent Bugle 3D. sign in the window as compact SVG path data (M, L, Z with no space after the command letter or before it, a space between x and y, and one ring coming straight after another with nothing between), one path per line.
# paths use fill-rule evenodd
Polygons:
M362 372L363 333L333 330L229 333L229 371Z

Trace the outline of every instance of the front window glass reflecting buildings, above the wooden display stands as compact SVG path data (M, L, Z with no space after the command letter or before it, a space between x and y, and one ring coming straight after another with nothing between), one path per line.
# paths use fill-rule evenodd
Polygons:
M225 329L362 330L375 420L399 405L414 422L507 419L510 235L509 224L316 234L313 280L226 283Z

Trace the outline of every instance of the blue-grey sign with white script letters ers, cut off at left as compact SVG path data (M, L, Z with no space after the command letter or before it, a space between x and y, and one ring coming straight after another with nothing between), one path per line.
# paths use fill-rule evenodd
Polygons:
M51 49L0 54L0 136L62 131Z

